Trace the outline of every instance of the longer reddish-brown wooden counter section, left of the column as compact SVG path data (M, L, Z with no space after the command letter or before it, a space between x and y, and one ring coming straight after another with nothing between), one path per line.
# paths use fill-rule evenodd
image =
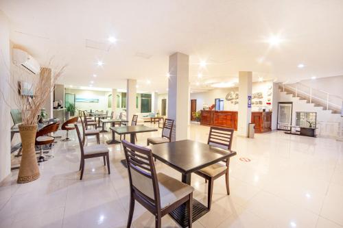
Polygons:
M200 124L207 126L228 127L237 131L238 112L201 110Z

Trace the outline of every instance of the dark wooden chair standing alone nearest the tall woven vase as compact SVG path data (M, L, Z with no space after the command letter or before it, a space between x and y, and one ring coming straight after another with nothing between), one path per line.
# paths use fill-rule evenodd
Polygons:
M76 129L76 133L78 134L78 139L80 143L80 151L81 151L81 160L80 160L80 169L79 169L81 170L80 179L82 179L84 175L84 160L88 158L93 158L93 157L103 157L104 166L106 166L106 162L107 162L108 174L110 174L110 155L108 153L109 152L108 148L103 144L96 144L96 145L84 147L85 135L83 134L81 138L78 125L75 124L74 126Z

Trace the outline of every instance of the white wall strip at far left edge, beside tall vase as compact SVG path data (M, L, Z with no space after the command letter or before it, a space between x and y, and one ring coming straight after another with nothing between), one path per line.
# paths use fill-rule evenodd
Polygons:
M0 90L6 101L10 100L10 88L8 81L10 75L10 29L8 18L0 10ZM11 157L10 157L10 107L5 104L1 95L0 99L0 181L10 175Z

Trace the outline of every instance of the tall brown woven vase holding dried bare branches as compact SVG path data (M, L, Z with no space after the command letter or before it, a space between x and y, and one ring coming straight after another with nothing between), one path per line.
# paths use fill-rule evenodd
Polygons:
M21 112L22 123L19 125L19 134L21 136L22 156L21 165L19 168L18 183L27 183L34 181L40 177L36 151L34 148L37 132L38 115L47 100L47 97L54 90L56 80L62 75L65 66L62 66L56 71L51 68L41 68L38 75L27 75L19 66L13 66L10 73L12 82L8 81L8 85L14 94L14 102ZM29 77L28 77L29 76ZM25 81L25 88L16 87L14 79ZM29 81L31 80L31 81ZM25 90L25 92L23 91ZM27 91L30 91L27 94ZM3 96L3 91L0 91ZM5 101L5 99L4 99ZM8 101L6 105L11 107Z

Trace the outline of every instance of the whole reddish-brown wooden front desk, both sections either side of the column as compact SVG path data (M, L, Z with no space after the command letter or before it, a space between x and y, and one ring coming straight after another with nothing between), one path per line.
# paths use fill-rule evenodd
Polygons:
M201 125L227 127L237 131L237 121L237 111L201 110ZM252 112L251 123L255 123L256 133L271 131L272 112Z

